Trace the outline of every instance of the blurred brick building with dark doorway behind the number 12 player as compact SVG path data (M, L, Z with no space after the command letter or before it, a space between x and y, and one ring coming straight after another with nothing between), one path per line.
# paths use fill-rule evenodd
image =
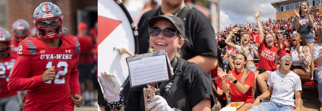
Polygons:
M79 22L87 23L89 28L97 22L96 0L0 0L0 27L11 31L14 21L24 19L33 28L33 12L43 2L52 2L61 9L63 27L70 35L77 34Z

